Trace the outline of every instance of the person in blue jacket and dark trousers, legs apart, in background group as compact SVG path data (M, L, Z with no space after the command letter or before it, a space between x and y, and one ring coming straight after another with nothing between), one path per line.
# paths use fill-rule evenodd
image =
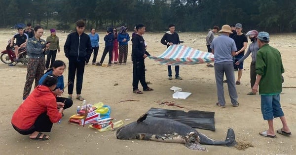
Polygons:
M105 40L105 48L104 48L104 52L101 58L100 62L97 62L96 65L102 65L102 63L104 62L104 59L107 55L107 53L109 53L109 61L108 61L108 65L111 66L111 60L112 60L112 51L113 51L113 45L114 45L114 34L113 34L113 28L108 28L106 35L104 37Z

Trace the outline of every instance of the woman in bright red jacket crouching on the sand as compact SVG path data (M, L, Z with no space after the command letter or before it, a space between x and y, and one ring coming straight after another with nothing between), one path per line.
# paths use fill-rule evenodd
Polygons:
M37 86L27 99L14 112L11 124L20 134L28 135L32 140L48 140L42 132L50 132L52 124L62 118L64 103L56 102L52 91L58 79L47 75L42 85ZM59 109L58 109L59 108Z

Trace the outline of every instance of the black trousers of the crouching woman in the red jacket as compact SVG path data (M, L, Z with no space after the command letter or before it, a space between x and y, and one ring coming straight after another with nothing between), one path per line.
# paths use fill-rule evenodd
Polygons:
M37 117L37 120L35 121L33 126L31 126L29 129L22 130L22 129L19 129L18 127L16 127L15 125L13 125L13 124L12 124L12 127L16 131L18 131L20 134L28 135L28 134L31 134L31 133L33 133L35 131L38 131L38 132L50 132L51 128L52 128L52 122L50 121L49 116L46 115L46 112L45 112L45 113L40 114Z

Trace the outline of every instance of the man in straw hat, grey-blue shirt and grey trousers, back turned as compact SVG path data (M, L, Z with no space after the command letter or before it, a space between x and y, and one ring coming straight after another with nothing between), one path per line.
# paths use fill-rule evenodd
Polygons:
M226 107L223 90L223 76L225 73L232 106L238 107L239 103L237 102L232 61L232 57L235 55L235 51L237 51L237 49L234 40L229 37L229 34L232 33L229 25L223 25L219 32L222 32L222 35L214 38L210 46L215 58L214 67L218 95L218 102L216 105L222 108Z

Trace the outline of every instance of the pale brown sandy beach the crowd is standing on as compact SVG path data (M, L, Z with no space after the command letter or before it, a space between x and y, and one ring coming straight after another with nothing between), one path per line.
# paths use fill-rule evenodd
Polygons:
M16 30L0 29L0 51L5 50L7 41L11 39ZM87 32L88 33L88 32ZM129 32L131 35L132 32ZM62 60L68 65L63 46L69 32L57 31L60 38L61 52L56 60ZM166 50L166 46L160 43L164 33L146 32L144 39L148 43L147 51L158 56ZM201 51L206 51L205 36L207 32L179 32L183 45L190 46ZM50 35L45 30L42 38ZM105 42L105 32L99 32L100 48L97 62L101 59ZM250 40L249 44L250 44ZM153 60L146 59L146 80L151 84L149 87L154 91L135 94L132 92L132 62L131 42L129 43L129 57L127 65L112 64L111 67L95 66L89 63L85 66L82 95L87 103L102 101L111 106L111 117L126 120L124 124L136 121L151 107L173 110L201 110L215 112L216 131L197 129L211 138L221 140L226 136L228 127L234 129L236 140L239 143L252 144L246 150L234 147L209 146L206 151L189 150L184 144L160 143L140 140L118 140L116 130L98 132L97 130L68 124L70 116L75 114L76 107L82 101L73 99L74 104L65 110L65 116L61 124L54 124L48 141L33 141L28 135L21 135L10 124L13 112L22 103L23 88L26 81L27 66L17 64L8 66L0 62L0 92L1 92L1 115L0 115L0 154L1 155L293 155L296 152L296 33L271 34L270 45L277 48L282 54L285 68L283 74L285 82L281 94L281 105L285 113L288 125L293 133L290 137L277 134L276 139L266 138L259 135L260 131L266 130L268 124L263 121L260 110L260 95L247 95L250 88L250 62L248 57L244 62L244 71L241 85L236 85L240 106L234 108L230 104L227 86L224 84L226 108L216 106L217 92L214 68L206 64L180 66L180 76L183 80L168 80L167 66ZM91 57L92 60L92 57ZM104 63L108 63L108 57ZM68 67L68 66L67 66ZM172 67L175 74L174 67ZM237 72L235 72L237 77ZM68 80L68 69L64 72L64 80ZM114 85L118 84L118 85ZM187 99L174 99L172 86L180 87L185 92L192 93ZM75 88L75 87L74 87ZM139 89L142 91L141 84ZM33 89L32 89L33 90ZM293 93L294 92L294 93ZM75 95L74 89L74 95ZM67 90L63 94L67 97ZM125 101L124 100L139 100ZM158 102L175 102L185 107L159 105ZM275 129L281 128L282 124L277 118L274 120Z

